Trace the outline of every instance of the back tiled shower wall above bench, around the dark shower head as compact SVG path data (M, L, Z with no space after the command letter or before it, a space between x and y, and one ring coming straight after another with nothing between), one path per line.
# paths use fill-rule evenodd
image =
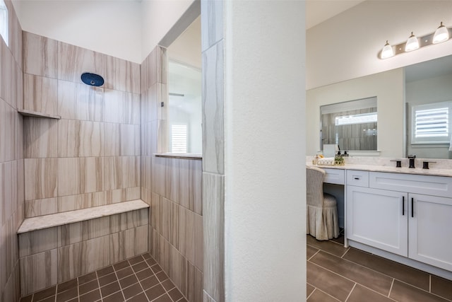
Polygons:
M26 32L23 47L23 108L61 116L25 117L25 216L140 199L140 65Z

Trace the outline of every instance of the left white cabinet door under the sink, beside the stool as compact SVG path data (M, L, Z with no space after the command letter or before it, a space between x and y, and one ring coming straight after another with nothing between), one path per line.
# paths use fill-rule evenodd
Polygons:
M347 186L347 238L408 256L408 194Z

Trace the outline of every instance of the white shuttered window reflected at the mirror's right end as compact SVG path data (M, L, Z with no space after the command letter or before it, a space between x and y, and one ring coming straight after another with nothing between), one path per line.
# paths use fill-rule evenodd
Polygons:
M452 101L412 106L411 144L448 144Z

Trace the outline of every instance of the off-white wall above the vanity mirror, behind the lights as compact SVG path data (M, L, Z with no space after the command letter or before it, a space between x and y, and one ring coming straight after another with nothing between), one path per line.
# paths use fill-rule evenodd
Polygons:
M405 42L410 32L452 27L452 1L368 0L307 30L307 89L355 79L452 54L452 40L381 60L389 40Z

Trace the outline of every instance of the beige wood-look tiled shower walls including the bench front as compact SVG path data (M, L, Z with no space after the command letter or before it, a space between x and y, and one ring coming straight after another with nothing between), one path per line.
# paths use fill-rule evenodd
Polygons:
M1 301L144 252L187 300L201 301L201 161L154 155L165 144L157 106L166 98L165 49L127 62L22 32L6 4L13 25L10 46L0 42ZM85 86L85 71L105 85ZM134 199L150 208L16 235L23 219Z

